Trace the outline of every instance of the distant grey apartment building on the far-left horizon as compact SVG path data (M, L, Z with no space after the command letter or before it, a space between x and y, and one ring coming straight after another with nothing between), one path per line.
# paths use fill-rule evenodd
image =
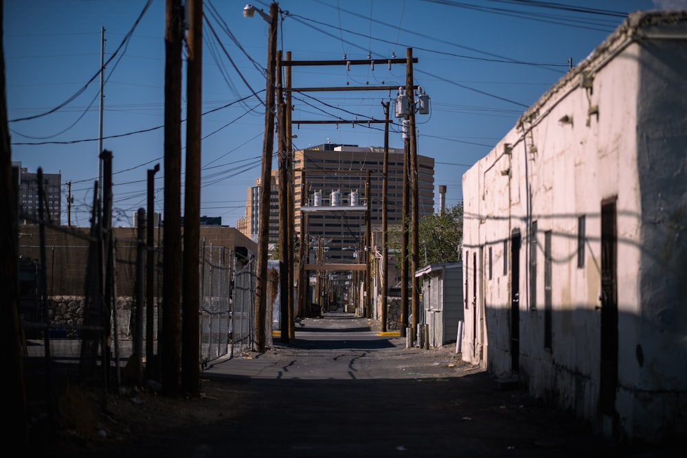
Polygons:
M19 217L26 223L38 219L38 174L29 172L21 166L21 162L12 162L12 166L19 171ZM62 210L62 174L43 173L43 218L60 224Z

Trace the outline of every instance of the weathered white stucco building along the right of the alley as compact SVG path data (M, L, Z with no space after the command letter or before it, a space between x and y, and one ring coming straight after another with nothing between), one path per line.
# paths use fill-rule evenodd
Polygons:
M687 12L631 14L462 186L462 358L616 439L687 431Z

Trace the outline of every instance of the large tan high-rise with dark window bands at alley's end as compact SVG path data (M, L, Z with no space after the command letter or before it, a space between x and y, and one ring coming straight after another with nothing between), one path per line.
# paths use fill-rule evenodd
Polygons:
M387 224L403 221L405 154L390 148L387 161ZM294 153L295 233L302 230L308 242L323 240L325 260L331 263L358 262L355 254L364 249L367 221L365 211L370 200L370 225L380 227L383 212L384 148L323 144ZM368 174L369 171L369 174ZM369 196L365 185L369 176ZM409 187L407 187L410 192ZM418 213L434 212L434 159L418 154ZM409 196L409 205L410 205ZM322 210L310 211L315 206ZM308 211L301 210L307 206ZM307 215L307 227L302 227ZM311 252L312 254L312 252Z

